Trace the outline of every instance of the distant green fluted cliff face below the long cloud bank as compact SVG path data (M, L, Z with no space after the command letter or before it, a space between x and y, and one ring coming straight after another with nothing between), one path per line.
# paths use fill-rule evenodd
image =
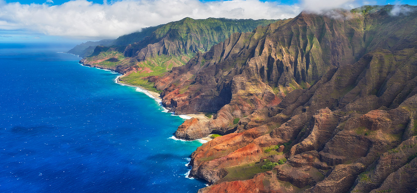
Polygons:
M124 54L126 57L136 57L138 61L142 61L160 54L178 56L207 51L211 46L225 40L234 32L251 32L259 25L268 25L277 21L282 22L282 20L230 20L224 18L194 20L186 17L180 21L162 25L149 37L130 43Z

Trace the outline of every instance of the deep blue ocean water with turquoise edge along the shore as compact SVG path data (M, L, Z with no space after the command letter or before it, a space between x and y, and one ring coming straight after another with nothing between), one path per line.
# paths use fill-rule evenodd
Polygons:
M1 193L195 193L183 122L73 45L0 43ZM187 159L188 158L188 159Z

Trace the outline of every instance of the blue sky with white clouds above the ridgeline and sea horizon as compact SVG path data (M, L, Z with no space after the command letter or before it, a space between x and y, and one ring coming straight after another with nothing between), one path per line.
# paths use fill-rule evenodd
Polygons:
M116 39L184 17L284 19L302 10L415 0L0 0L0 42L85 42Z

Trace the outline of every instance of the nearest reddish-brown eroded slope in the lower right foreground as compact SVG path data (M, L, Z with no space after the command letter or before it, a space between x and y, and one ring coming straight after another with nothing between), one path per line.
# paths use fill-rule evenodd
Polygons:
M238 125L242 132L217 137L198 148L192 155L191 174L215 183L204 192L230 192L234 190L233 186L222 180L228 179L229 173L245 164L256 165L257 161L274 159L274 153L265 148L292 141L291 148L285 153L288 161L275 166L272 177L262 175L259 179L272 181L270 178L274 178L275 182L268 186L259 183L259 187L251 188L270 192L348 192L350 189L352 192L369 192L387 181L390 184L386 185L388 190L397 182L388 176L398 175L396 173L401 173L402 167L412 167L406 164L414 159L412 155L416 150L416 136L413 136L417 134L414 122L416 53L415 48L394 53L374 51L355 64L340 67L332 76L323 76L290 106L283 104L257 111L256 118L248 116ZM385 60L387 58L392 60ZM389 68L391 73L381 73L378 78L371 75L376 69L381 72ZM342 74L349 74L352 79L345 79L347 82L341 84ZM402 86L384 89L388 82ZM413 86L407 86L411 84ZM369 94L375 85L379 85L376 88L379 94ZM306 95L309 95L307 100ZM388 102L386 97L390 98ZM350 103L343 105L348 98ZM287 100L291 99L284 98L283 102ZM388 105L384 106L384 102ZM292 105L296 108L288 119L286 110ZM256 121L259 117L267 124L246 128L244 122ZM398 154L395 158L382 159L380 156L392 153ZM390 163L392 167L387 168L390 159L399 157L401 161ZM413 170L408 172L407 175L416 174ZM239 186L249 186L244 185L248 183L246 180L239 183L243 184ZM279 191L285 183L290 188ZM394 185L398 190L417 188L410 182L395 186L398 184Z

